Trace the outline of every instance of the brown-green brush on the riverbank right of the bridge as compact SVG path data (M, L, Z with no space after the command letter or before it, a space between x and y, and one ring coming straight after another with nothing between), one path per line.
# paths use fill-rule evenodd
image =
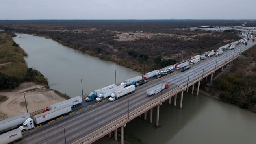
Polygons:
M230 72L221 75L214 87L219 98L238 107L256 112L256 46L243 52L231 64Z

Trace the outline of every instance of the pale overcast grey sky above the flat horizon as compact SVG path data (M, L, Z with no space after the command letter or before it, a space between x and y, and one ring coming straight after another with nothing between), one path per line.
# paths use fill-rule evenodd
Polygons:
M256 0L1 0L0 20L256 19Z

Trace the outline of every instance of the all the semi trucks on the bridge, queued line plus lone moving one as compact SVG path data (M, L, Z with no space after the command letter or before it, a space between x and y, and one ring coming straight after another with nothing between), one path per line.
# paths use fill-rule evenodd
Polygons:
M253 39L254 40L254 39ZM189 65L198 63L200 60L204 60L206 57L211 57L213 55L218 56L225 50L232 50L239 43L244 43L247 45L247 41L236 41L225 46L220 47L218 50L212 50L205 52L203 55L196 55L191 57L191 59L184 61L182 63L177 63L174 66L169 66L161 70L154 70L148 72L143 76L136 76L134 78L127 79L117 86L115 84L109 85L107 87L94 90L89 93L85 100L87 102L95 100L96 102L101 102L102 100L108 99L109 102L113 102L126 94L133 93L136 86L143 85L147 83L147 79L155 77L160 78L166 74L174 72L174 70L182 70ZM182 71L181 71L182 72ZM159 83L149 89L147 89L147 95L152 96L161 92L169 87L168 83ZM43 113L37 114L35 116L30 116L29 113L20 114L18 116L7 118L6 120L0 121L0 144L7 144L19 140L22 138L22 133L36 126L48 122L50 120L55 120L55 118L65 116L72 111L72 107L76 107L78 104L82 103L82 97L76 96L59 103L55 103L46 107Z

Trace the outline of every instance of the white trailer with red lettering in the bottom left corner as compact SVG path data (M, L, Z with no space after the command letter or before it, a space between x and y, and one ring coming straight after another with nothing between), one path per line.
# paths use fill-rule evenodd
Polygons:
M0 144L10 144L22 138L20 129L13 129L0 135Z

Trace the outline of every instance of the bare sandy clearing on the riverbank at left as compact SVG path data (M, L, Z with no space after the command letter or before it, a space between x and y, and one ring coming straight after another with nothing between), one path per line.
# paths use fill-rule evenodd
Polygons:
M0 103L0 120L26 113L26 97L28 113L38 111L51 104L65 100L54 90L46 89L45 85L33 82L24 82L11 91L0 91L0 95L7 96L8 100Z

